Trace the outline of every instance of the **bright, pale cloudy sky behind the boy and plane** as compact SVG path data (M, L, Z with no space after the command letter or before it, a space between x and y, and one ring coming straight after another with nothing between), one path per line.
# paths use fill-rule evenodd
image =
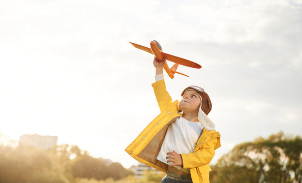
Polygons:
M190 85L209 95L222 144L213 164L259 136L302 135L301 0L0 0L0 25L6 138L58 136L137 165L124 149L160 109L153 55L128 42L152 40L202 66L164 77L173 101Z

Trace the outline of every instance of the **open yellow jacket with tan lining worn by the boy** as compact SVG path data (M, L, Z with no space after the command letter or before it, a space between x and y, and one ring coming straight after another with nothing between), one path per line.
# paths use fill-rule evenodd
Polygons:
M125 149L127 153L137 161L166 172L168 165L157 160L162 142L165 138L169 124L178 116L178 101L172 103L172 99L166 90L164 80L152 84L161 113L138 135L138 137ZM190 169L193 183L209 182L210 161L215 155L215 149L220 147L219 132L202 130L194 152L181 154L183 168Z

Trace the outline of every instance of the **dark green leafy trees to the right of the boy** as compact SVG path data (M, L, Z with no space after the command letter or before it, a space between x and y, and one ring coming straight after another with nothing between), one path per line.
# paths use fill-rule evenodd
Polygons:
M210 173L211 182L302 182L302 139L283 132L236 145Z

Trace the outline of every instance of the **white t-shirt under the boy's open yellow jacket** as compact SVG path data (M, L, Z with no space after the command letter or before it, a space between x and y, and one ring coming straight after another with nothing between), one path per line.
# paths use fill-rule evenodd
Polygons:
M168 159L166 159L168 152L175 150L178 154L193 153L202 128L199 122L189 121L182 116L178 117L175 122L168 127L157 160L171 165L173 163L167 163Z

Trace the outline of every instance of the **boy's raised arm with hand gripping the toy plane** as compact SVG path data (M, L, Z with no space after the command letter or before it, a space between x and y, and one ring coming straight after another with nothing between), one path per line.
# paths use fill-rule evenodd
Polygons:
M165 62L158 63L155 57L153 60L153 65L156 68L156 82L153 83L152 86L161 111L165 110L165 108L172 103L172 98L166 90L166 84L163 79L163 66Z

